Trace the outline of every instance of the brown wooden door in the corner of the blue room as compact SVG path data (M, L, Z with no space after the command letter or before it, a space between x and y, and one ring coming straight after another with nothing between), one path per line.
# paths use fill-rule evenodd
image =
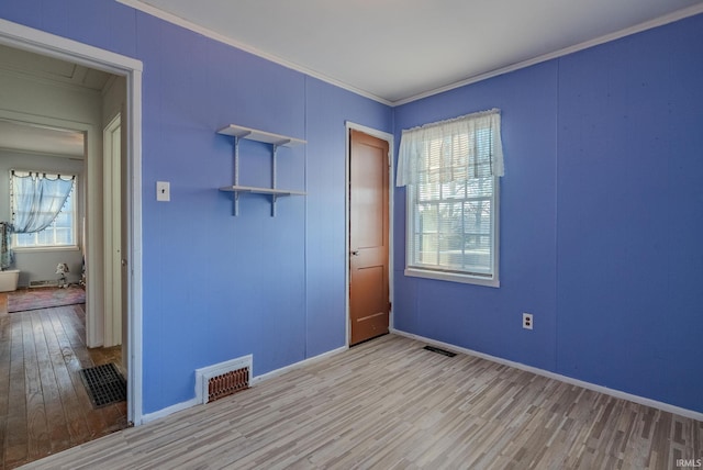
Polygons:
M350 131L350 345L388 333L388 142Z

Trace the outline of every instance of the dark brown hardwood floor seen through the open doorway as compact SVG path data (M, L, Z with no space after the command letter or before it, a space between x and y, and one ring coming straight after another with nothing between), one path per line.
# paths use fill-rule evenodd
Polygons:
M79 371L118 362L88 349L85 305L7 313L0 293L0 468L59 452L126 427L126 402L94 410Z

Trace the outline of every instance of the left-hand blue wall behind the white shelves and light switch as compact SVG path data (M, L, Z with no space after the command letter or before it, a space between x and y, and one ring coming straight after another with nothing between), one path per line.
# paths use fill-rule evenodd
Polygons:
M345 121L392 132L392 109L111 0L3 0L0 18L137 58L143 75L144 410L194 396L194 369L254 354L254 373L345 339ZM232 184L228 123L291 135L270 216ZM243 142L242 184L270 183ZM171 202L156 202L157 180Z

